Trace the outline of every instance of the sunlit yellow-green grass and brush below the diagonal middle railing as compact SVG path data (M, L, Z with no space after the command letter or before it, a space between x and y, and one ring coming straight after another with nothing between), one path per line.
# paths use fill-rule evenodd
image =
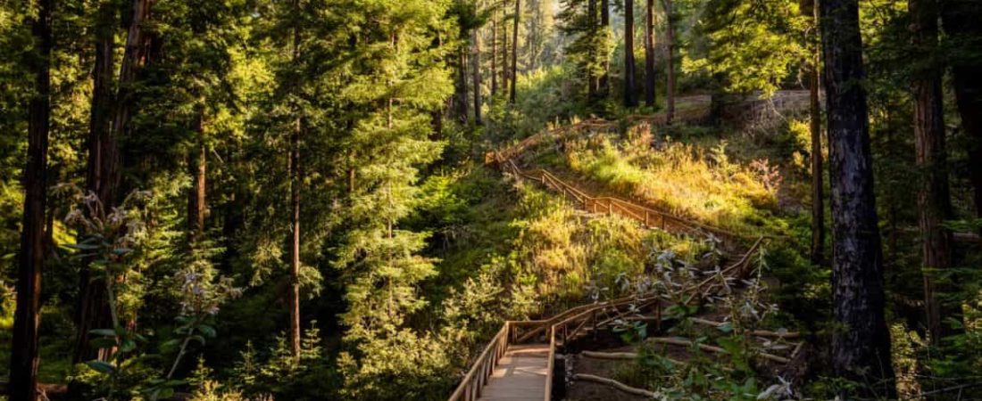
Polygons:
M518 276L534 276L535 292L576 305L587 296L627 295L624 282L645 276L653 255L671 251L692 266L708 261L703 238L648 230L623 217L586 217L551 192L524 186L519 207L538 213L515 222L510 259ZM534 206L533 206L534 205Z

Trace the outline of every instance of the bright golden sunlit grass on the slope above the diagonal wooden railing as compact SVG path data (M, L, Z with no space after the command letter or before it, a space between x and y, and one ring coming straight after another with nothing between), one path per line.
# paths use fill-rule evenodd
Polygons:
M777 205L776 178L765 167L730 162L725 145L704 149L666 141L652 149L640 141L609 138L568 142L574 172L625 195L699 222L742 232L759 231Z

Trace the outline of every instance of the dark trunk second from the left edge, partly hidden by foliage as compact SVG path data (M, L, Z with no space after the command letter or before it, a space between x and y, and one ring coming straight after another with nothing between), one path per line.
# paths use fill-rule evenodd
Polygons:
M107 163L117 156L116 137L112 135L113 91L115 63L116 6L113 2L100 2L95 22L95 68L92 72L92 102L87 138L88 159L85 169L85 191L107 204L115 199L115 179ZM72 363L79 364L98 357L98 350L89 346L89 331L111 326L109 304L104 293L105 285L91 282L87 263L79 272L79 299L75 311L76 338ZM73 386L74 387L74 386ZM73 388L75 390L75 388ZM72 391L74 392L74 391Z

